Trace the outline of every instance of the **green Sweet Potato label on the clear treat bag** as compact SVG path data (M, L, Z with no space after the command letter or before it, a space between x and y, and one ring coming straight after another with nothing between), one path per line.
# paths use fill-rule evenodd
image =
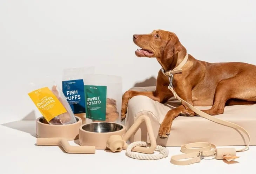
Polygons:
M86 118L106 120L107 86L85 85Z

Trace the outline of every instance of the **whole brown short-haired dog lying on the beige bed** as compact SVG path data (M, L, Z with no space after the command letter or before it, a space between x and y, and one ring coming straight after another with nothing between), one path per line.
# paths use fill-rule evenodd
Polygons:
M138 57L156 58L163 70L177 67L187 54L173 32L154 30L147 35L133 35L134 43L142 48L135 51ZM174 74L174 91L183 100L193 106L212 106L203 112L210 115L222 114L227 105L256 104L256 66L248 63L208 63L199 61L189 55L183 72ZM126 117L128 100L134 96L147 96L160 103L165 103L173 96L168 89L169 78L160 70L153 92L128 90L122 97L122 120ZM170 134L173 120L179 116L194 116L186 104L171 109L166 114L160 129L159 137Z

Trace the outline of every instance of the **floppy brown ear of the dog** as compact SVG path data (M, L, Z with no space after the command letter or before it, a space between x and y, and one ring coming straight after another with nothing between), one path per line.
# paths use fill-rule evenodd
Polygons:
M169 42L166 44L166 47L164 47L163 50L163 58L171 58L178 52L180 52L181 47L180 44L178 44L179 41L176 36L172 36L169 39Z

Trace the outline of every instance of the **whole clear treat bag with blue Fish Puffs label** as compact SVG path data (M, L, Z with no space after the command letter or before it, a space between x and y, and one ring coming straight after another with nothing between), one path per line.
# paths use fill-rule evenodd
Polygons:
M73 113L86 123L86 104L83 76L94 74L94 67L66 68L63 70L62 91Z

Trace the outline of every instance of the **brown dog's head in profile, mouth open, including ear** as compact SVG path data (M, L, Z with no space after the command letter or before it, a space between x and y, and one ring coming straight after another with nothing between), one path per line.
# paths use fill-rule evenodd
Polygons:
M166 59L180 52L180 42L176 34L165 30L133 35L133 42L141 48L135 51L138 57Z

